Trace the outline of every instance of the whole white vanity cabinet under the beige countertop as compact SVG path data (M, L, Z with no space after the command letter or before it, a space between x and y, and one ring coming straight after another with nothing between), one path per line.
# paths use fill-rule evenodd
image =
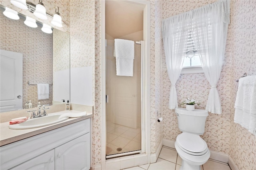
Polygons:
M89 170L90 118L1 146L1 170Z

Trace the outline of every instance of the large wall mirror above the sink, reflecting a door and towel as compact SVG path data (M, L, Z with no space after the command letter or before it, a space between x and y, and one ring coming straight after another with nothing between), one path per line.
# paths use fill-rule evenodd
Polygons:
M55 28L47 34L41 23L31 28L24 24L24 16L12 20L4 10L1 6L0 112L70 100L69 34Z

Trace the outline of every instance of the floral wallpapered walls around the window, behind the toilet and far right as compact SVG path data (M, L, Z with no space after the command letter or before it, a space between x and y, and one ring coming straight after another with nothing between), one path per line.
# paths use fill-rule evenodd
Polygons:
M192 10L214 1L162 1L162 19ZM231 23L228 26L225 60L217 84L222 103L222 114L212 114L206 120L202 138L210 150L230 154L238 169L254 169L256 159L255 136L238 124L234 124L234 100L237 78L247 72L255 74L255 1L231 1ZM171 9L171 10L169 10ZM176 114L168 109L170 80L165 56L162 56L162 113L164 114L163 138L175 140L180 134ZM196 98L205 109L210 84L204 74L181 74L176 83L178 103L186 97ZM183 107L180 105L180 107Z

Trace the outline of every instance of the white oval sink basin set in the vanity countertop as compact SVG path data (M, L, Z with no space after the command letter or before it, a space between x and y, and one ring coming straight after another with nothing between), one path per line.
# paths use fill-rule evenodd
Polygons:
M40 117L40 118L33 118L28 119L25 122L22 122L20 124L10 124L10 129L31 129L31 128L38 128L42 126L48 126L51 124L56 124L58 122L62 122L64 120L67 120L68 117L60 118L60 115L62 114L48 114L47 116Z

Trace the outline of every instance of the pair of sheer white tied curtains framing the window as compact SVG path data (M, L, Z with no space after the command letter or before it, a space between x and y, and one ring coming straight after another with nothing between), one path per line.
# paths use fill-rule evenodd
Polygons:
M221 104L216 84L224 60L230 1L217 1L162 21L162 36L168 76L171 81L169 108L178 107L175 84L182 70L184 45L192 32L202 68L211 90L206 110L220 114ZM182 57L183 56L183 57Z

